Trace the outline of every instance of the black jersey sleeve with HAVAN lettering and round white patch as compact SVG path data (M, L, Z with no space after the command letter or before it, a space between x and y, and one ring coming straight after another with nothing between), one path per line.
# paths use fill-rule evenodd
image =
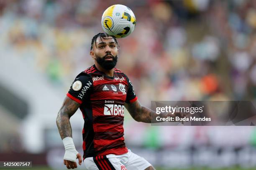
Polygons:
M72 100L82 104L84 98L90 95L92 89L92 77L82 72L75 78L70 86L67 96Z

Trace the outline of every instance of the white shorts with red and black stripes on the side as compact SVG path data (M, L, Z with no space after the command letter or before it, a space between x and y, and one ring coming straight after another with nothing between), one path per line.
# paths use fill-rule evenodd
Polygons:
M84 160L86 170L145 170L151 166L144 158L132 153L89 157Z

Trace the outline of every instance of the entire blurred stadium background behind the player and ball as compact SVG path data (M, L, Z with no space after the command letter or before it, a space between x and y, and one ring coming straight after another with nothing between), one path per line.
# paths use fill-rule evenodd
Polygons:
M0 0L0 161L65 169L56 115L114 4L136 16L117 67L139 101L256 102L256 0ZM82 153L82 114L71 118ZM125 143L157 170L256 167L253 126L151 126L125 114ZM84 169L81 166L80 169Z

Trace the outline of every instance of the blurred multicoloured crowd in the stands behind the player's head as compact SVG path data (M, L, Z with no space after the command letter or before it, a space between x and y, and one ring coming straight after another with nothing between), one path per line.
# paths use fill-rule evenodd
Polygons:
M113 4L136 15L117 67L144 105L256 99L256 0L0 0L1 57L17 54L67 91L94 63L91 39Z

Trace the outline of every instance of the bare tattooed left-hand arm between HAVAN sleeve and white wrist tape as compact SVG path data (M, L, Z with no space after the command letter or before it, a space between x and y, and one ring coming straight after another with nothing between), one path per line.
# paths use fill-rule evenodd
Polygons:
M56 124L58 126L61 139L64 139L66 137L72 138L72 128L69 119L72 115L74 115L79 106L79 103L75 102L69 97L65 98L56 118Z

